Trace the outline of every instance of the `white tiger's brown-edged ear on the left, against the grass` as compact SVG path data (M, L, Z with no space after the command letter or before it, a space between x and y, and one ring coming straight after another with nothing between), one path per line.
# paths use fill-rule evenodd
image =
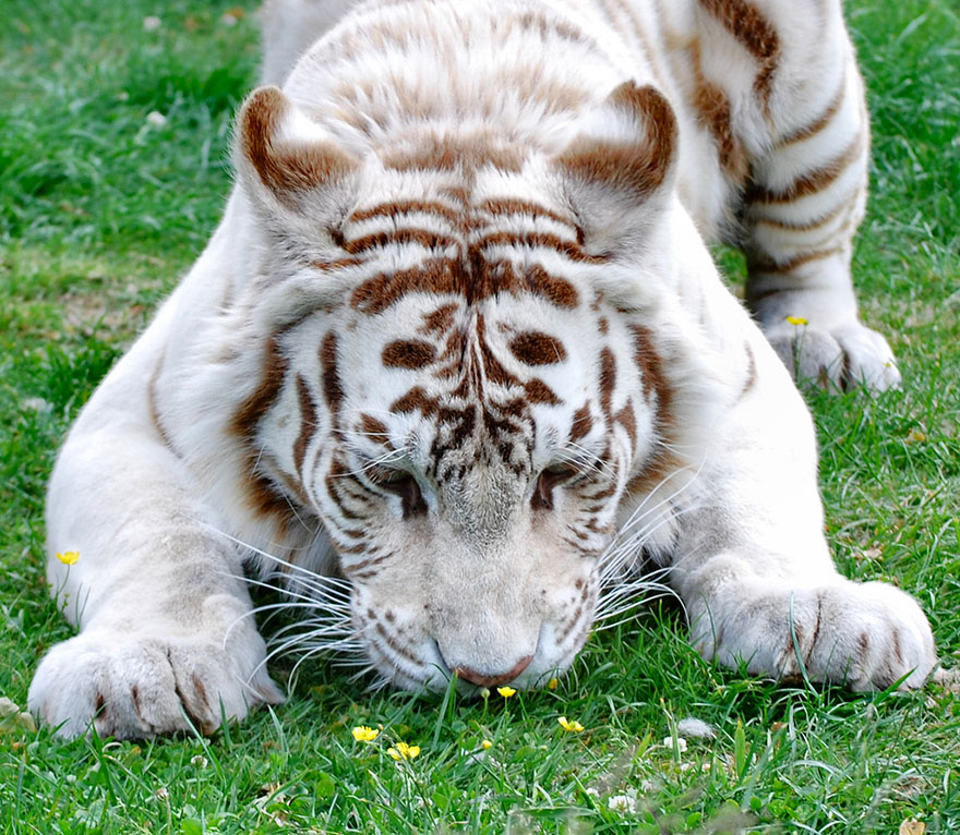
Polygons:
M340 183L360 165L275 86L253 90L243 102L235 144L248 187L293 210L302 210L310 195Z

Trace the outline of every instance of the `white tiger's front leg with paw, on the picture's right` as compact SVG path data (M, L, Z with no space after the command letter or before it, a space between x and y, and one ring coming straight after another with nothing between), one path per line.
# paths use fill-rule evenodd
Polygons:
M672 566L693 644L778 679L920 687L937 661L927 619L899 589L837 572L809 416L759 335L753 350L759 383L718 428Z

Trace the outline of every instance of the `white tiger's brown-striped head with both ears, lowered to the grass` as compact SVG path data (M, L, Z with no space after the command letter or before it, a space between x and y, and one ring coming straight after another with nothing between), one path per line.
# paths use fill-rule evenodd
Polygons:
M255 481L322 521L400 687L565 669L619 512L675 463L676 125L633 84L602 121L553 153L421 133L361 155L275 87L241 112L273 375L241 410Z

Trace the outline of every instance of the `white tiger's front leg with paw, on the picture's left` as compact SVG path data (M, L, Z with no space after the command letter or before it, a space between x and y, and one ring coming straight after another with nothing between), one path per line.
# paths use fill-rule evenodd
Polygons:
M160 327L94 395L50 482L48 581L80 633L44 657L28 702L65 737L91 724L118 738L209 731L281 700L239 557L204 525L148 414L143 380ZM64 565L58 552L79 559Z

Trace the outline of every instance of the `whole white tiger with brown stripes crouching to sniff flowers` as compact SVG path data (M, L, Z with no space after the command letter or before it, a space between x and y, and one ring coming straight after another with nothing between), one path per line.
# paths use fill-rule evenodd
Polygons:
M267 7L283 87L239 112L223 221L59 455L80 632L32 710L143 737L281 701L248 582L398 687L535 688L649 568L706 658L920 687L921 608L831 561L790 374L899 382L850 278L839 3L347 5Z

